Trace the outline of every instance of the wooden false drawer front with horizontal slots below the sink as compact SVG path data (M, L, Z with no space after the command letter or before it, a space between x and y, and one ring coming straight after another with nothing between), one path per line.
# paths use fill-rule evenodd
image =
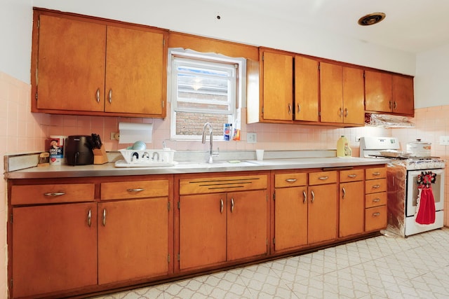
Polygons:
M258 190L267 188L267 175L180 179L180 195Z

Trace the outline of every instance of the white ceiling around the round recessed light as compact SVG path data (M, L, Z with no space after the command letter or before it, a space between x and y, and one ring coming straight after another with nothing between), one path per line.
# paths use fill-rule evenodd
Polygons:
M240 13L420 53L449 43L449 0L210 0ZM386 18L360 26L363 15Z

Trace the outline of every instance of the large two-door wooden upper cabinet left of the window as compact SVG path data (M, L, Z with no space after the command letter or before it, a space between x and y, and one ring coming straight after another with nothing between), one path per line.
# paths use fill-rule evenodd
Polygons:
M166 32L34 11L32 111L166 116Z

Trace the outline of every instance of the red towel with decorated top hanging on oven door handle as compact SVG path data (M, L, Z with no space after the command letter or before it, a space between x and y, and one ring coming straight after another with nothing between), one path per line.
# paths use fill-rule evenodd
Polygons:
M418 198L416 204L415 222L418 224L435 223L435 198L432 183L436 181L433 172L421 172L417 177Z

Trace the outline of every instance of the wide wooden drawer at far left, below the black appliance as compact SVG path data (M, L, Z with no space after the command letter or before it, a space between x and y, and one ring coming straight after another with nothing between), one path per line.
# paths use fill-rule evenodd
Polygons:
M92 202L95 184L70 183L11 186L11 204L53 204L55 202Z

